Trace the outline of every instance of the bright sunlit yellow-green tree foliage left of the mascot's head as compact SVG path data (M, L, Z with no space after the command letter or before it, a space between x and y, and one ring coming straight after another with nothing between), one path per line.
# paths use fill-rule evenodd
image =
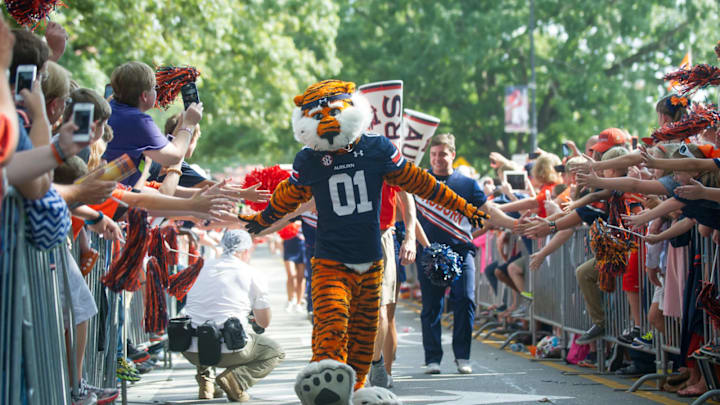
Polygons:
M340 69L338 6L331 0L67 0L52 19L70 36L61 63L101 91L130 60L200 70L205 105L196 157L213 161L289 160L292 98ZM42 33L42 29L39 30ZM158 124L181 110L154 111Z

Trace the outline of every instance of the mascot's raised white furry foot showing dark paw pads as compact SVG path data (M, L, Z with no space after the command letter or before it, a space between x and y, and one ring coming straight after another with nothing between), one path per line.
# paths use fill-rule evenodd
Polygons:
M295 393L302 405L349 405L355 370L336 360L310 363L295 380Z

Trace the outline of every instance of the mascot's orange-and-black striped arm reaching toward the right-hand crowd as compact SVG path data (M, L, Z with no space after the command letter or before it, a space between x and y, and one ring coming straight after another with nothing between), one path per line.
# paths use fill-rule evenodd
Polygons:
M384 179L386 183L399 186L410 194L463 214L475 227L482 227L483 220L489 218L480 208L465 201L448 186L437 181L430 173L412 162L407 162L400 170L386 174Z

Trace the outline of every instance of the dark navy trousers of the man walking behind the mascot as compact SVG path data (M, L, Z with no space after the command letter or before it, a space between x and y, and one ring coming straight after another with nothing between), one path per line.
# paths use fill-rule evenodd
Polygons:
M475 252L468 250L461 253L463 258L462 275L450 285L450 303L453 314L452 347L455 359L470 359L473 322L475 320ZM423 263L425 257L418 261ZM422 266L422 265L421 265ZM431 283L422 269L418 269L420 290L422 292L422 323L423 349L425 364L440 363L442 360L442 325L445 288Z

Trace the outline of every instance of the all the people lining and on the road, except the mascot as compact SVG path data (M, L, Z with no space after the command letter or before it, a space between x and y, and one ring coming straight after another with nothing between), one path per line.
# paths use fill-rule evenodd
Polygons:
M103 404L118 396L116 388L92 386L82 374L88 322L98 313L84 279L98 257L88 232L117 241L120 248L124 239L129 239L123 225L126 214L136 208L162 218L154 221L160 228L194 228L201 235L201 244L217 249L217 257L205 263L184 301L182 313L191 317L187 330L192 343L182 351L197 366L200 398L212 398L222 391L233 400L248 400L248 388L284 357L282 349L261 333L271 319L267 286L252 276L247 265L252 242L242 230L245 222L237 217L239 202L267 201L270 193L257 186L242 188L229 179L210 179L185 162L200 141L202 104L191 104L160 129L147 114L155 107L157 97L152 68L141 62L117 66L110 78L112 94L105 98L77 83L72 72L62 66L66 41L65 30L52 22L44 39L28 30L10 30L0 22L2 173L22 196L26 212L35 213L28 225L28 238L34 246L50 249L60 245L67 249L69 233L80 251L77 262L68 256L71 259L63 270L70 281L69 291L63 294L71 296L71 306L63 311L64 325L73 329L68 336L74 336L76 343L74 351L67 346L68 357L75 356L76 373L70 378L73 403ZM28 67L37 72L36 78L29 88L20 89L16 87L17 72ZM74 136L80 129L74 113L79 104L93 106L89 140L78 141ZM661 98L655 108L657 126L685 119L692 113L691 105L676 94ZM527 272L539 269L545 258L585 224L592 227L595 245L591 245L596 256L576 271L592 320L592 327L576 340L577 344L592 346L586 362L592 363L593 353L605 350L594 344L606 336L603 294L614 291L618 282L627 296L628 316L634 325L617 340L637 347L653 344L657 337L653 331L642 330L641 321L646 309L639 291L642 278L647 277L655 286L647 313L655 331L664 333L665 317L679 318L684 325L679 357L682 378L668 381L666 389L681 396L702 394L707 385L690 356L712 342L702 341L703 317L696 304L701 275L693 270L699 245L691 234L697 229L714 243L720 236L719 131L720 122L713 122L684 140L637 147L637 139L627 131L608 128L590 136L584 150L572 141L565 142L562 158L538 149L519 164L493 152L489 159L494 173L481 178L472 169L454 167L453 135L433 137L428 172L489 218L485 226L475 228L457 211L412 196L398 186L383 185L379 211L383 271L368 383L393 386L395 309L400 286L408 277L405 266L417 263L426 373L442 370L441 320L449 288L455 367L459 373L469 374L478 310L477 277L486 277L493 286L504 283L513 292L506 308L489 308L495 310L494 316L525 319L533 299L527 292ZM125 159L138 170L108 180L105 165L115 159ZM511 185L508 175L524 180ZM277 232L282 238L287 273L285 310L308 313L310 321L317 322L313 319L313 314L317 316L313 310L315 294L311 292L316 278L311 260L318 237L314 201L286 218L260 234ZM51 226L45 226L47 223ZM208 229L211 231L205 232ZM475 256L484 255L477 247L489 233L496 236L501 260L487 263ZM533 240L538 242L534 244ZM459 276L449 287L438 285L425 271L424 263L430 260L426 248L434 243L446 245L460 258ZM640 257L641 253L645 257ZM483 263L482 268L475 268L477 262ZM206 326L223 324L215 333L230 333L233 324L228 321L232 319L237 319L240 330L247 333L240 333L242 345L234 349L229 344L233 339L225 337L225 346L218 349L219 357L213 364L226 371L213 377L203 355L198 355L198 346L206 344ZM153 332L162 342L165 331ZM138 369L152 369L151 353L137 349L133 345L137 342L120 339L117 343L119 379L137 381ZM150 352L158 347L150 348ZM638 366L631 364L623 370L633 374Z

